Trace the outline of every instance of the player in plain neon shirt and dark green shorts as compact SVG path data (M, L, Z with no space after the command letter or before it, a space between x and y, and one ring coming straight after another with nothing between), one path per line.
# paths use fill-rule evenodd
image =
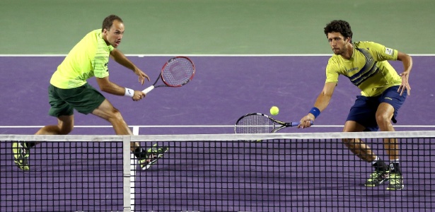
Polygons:
M57 67L50 80L48 96L50 101L49 114L57 117L57 125L42 127L36 135L65 135L74 128L74 110L83 114L94 114L112 124L117 135L132 135L129 126L124 122L119 110L86 81L95 76L100 90L112 95L127 96L126 100L139 101L145 97L140 90L124 88L109 80L108 62L109 57L118 64L132 70L139 76L139 82L143 85L147 76L141 69L129 61L120 50L122 36L124 35L124 23L115 15L110 15L103 20L103 27L88 33L66 55L64 61ZM15 142L12 145L16 165L21 170L29 170L28 157L30 148L35 142ZM168 148L158 148L153 145L144 150L139 143L131 143L130 149L139 159L142 169L147 169Z

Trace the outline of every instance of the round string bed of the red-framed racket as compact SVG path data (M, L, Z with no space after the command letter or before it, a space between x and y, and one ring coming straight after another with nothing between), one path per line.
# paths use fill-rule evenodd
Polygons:
M168 86L182 86L192 79L195 67L189 59L178 57L168 61L162 71L162 78Z

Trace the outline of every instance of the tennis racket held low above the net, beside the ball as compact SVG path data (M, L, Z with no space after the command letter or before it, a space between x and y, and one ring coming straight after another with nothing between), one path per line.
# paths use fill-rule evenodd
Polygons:
M237 120L234 132L236 134L269 134L289 126L298 126L298 124L300 122L281 122L262 113L249 113Z

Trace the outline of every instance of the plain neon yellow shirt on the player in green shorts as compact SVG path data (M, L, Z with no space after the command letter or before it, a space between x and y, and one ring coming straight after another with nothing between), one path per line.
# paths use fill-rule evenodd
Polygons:
M57 88L69 89L83 86L93 76L109 76L109 54L113 49L112 45L105 43L101 29L93 30L57 66L50 83Z

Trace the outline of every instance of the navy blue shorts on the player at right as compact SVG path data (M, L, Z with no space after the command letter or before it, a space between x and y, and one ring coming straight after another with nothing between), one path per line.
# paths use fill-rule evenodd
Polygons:
M398 111L405 102L407 90L402 95L398 92L399 86L393 86L385 90L381 95L375 97L356 96L355 104L350 108L347 121L354 121L366 127L365 131L378 131L376 123L376 110L382 103L388 103L394 107L393 122L396 123Z

